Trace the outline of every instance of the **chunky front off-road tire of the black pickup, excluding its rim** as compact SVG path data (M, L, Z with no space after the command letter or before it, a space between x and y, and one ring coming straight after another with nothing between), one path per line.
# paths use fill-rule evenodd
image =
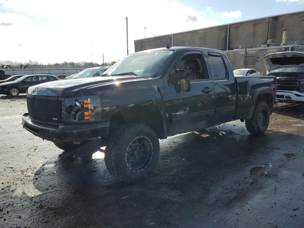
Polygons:
M141 171L131 171L126 164L126 151L129 143L144 136L152 143L153 152L149 164ZM115 178L126 183L136 183L146 178L154 169L159 157L159 140L155 131L142 123L120 125L109 133L105 149L105 165Z

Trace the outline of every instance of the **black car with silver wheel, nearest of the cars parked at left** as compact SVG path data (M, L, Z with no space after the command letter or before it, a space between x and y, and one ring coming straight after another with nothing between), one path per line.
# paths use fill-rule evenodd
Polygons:
M20 93L25 93L26 90L32 85L38 85L48 81L59 80L54 75L46 74L30 74L18 78L16 81L9 81L0 85L0 94L10 96L18 96Z

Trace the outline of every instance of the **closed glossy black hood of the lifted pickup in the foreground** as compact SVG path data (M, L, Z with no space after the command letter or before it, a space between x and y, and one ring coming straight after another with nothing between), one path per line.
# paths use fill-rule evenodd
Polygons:
M28 88L27 94L41 96L72 97L77 92L85 88L130 80L144 80L144 78L135 76L105 76L57 80L52 82L46 82L40 85L31 86Z

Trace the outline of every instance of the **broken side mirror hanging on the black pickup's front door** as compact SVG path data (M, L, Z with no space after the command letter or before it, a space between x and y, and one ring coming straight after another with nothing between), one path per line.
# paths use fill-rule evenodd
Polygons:
M175 70L175 73L169 74L168 84L173 84L177 93L180 93L181 89L188 92L190 91L190 80L187 77L189 74L191 74L191 70L189 68Z

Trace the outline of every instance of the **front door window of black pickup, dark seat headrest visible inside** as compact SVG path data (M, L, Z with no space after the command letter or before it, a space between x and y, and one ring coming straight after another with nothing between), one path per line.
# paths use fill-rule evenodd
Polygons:
M206 67L202 59L202 54L187 54L175 66L176 69L189 68L191 75L189 80L208 79Z

